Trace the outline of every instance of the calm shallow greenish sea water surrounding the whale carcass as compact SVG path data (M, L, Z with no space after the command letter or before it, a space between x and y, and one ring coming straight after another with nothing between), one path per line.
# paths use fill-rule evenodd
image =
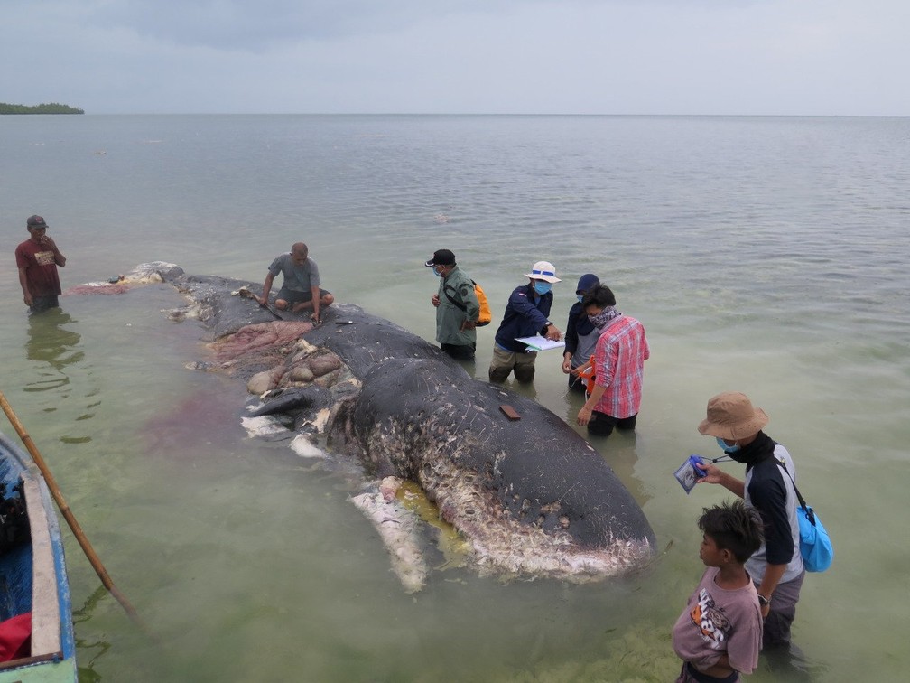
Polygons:
M672 680L695 519L729 495L686 495L672 472L720 454L695 426L725 390L771 416L836 548L798 608L807 673L763 658L750 679L905 680L908 159L908 118L0 117L0 388L159 641L67 530L80 680ZM637 433L595 446L661 555L588 586L450 569L405 595L348 501L358 481L249 439L244 387L185 369L206 350L167 321L174 291L28 318L13 251L33 213L65 289L150 260L261 284L305 240L339 301L430 341L433 250L455 251L496 320L535 260L563 278L561 327L597 273L652 358ZM530 393L573 419L559 365L541 354Z

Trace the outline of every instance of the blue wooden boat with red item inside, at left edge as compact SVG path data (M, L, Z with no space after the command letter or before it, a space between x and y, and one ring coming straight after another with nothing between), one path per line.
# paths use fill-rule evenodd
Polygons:
M34 462L3 433L0 484L5 497L22 497L31 530L30 540L0 555L0 622L32 615L30 652L0 662L0 683L76 681L73 607L56 509Z

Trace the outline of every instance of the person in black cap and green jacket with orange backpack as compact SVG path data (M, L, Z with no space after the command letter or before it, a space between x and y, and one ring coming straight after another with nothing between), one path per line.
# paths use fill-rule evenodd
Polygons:
M470 361L477 350L477 331L480 301L474 283L459 270L455 254L440 249L424 263L440 279L440 291L430 297L436 307L436 341L442 351L452 358Z

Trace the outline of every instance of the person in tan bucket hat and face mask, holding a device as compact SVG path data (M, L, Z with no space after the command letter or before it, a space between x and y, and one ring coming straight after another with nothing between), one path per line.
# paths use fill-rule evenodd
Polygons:
M708 401L698 431L717 440L725 454L745 465L745 479L705 463L700 484L721 484L762 516L764 543L745 564L762 606L763 649L789 647L805 568L799 552L798 504L793 459L762 430L768 416L742 392L723 392ZM790 476L783 472L783 464Z

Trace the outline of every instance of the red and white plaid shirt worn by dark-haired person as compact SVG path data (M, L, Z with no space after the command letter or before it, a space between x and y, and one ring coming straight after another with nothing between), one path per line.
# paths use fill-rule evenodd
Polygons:
M610 321L594 350L594 383L607 388L594 410L619 420L638 413L644 362L650 357L641 322L627 315Z

